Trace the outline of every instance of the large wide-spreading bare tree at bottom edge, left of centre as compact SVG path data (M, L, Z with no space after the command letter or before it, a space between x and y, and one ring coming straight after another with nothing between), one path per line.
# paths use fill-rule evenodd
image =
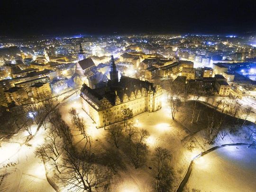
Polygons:
M87 157L78 156L73 148L64 148L62 168L59 176L68 191L94 192L105 188L111 179L110 170L86 162Z

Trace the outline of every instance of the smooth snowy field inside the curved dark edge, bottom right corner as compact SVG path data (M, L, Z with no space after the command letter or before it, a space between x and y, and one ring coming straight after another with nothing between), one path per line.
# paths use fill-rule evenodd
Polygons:
M187 185L203 192L255 192L256 149L227 146L196 159Z

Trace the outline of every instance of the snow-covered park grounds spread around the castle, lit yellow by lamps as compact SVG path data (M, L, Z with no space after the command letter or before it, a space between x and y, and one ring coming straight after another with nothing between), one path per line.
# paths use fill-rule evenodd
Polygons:
M109 166L113 166L116 173L112 176L110 191L113 192L148 192L154 189L155 184L155 150L158 147L170 151L171 188L176 191L189 162L199 153L214 146L203 142L204 122L203 117L198 122L190 123L192 107L183 105L178 110L176 119L171 118L171 109L167 102L166 93L162 99L162 109L154 113L142 113L129 121L136 127L137 132L144 129L148 135L145 144L148 154L142 166L135 168L127 156L126 134L123 122L116 125L123 127L123 136L120 137L119 148L113 145L109 137L111 126L97 128L95 122L82 110L80 96L72 94L70 97L60 98L57 109L61 118L70 127L73 144L78 152L84 150L86 140L72 123L70 109L76 109L79 117L85 122L86 132L91 140L91 150L96 157L101 156ZM187 109L186 109L187 108ZM206 108L198 105L199 109ZM186 112L184 112L186 109ZM199 116L199 114L198 114ZM232 119L231 119L232 121ZM31 126L31 135L21 130L10 138L1 141L0 153L0 189L6 192L54 192L65 191L61 183L56 180L56 171L53 167L35 155L46 137L50 134L52 124L46 118L46 129L38 125ZM229 125L230 126L230 125ZM227 134L224 138L218 136L215 145L249 142L248 133L252 129L245 126L243 129ZM31 137L31 138L30 138ZM30 138L27 140L27 138ZM201 192L239 192L242 190L253 191L256 188L253 178L256 176L256 150L247 146L229 146L194 160L191 175L183 188L184 192L192 189ZM101 161L101 159L99 159ZM102 161L102 162L103 162ZM235 181L235 183L234 183ZM11 187L10 187L11 186ZM56 187L58 186L58 187ZM210 186L210 187L209 187Z

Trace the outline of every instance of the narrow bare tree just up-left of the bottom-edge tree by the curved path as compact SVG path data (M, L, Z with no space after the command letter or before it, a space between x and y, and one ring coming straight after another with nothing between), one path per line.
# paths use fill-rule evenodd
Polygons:
M146 145L146 138L149 136L147 130L142 129L138 132L137 139L132 145L131 157L134 167L137 169L146 161L146 154L148 153L148 147Z

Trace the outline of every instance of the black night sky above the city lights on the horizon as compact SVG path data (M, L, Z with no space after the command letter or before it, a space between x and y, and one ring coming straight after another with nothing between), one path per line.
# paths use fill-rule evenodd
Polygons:
M245 33L256 0L1 0L0 35Z

